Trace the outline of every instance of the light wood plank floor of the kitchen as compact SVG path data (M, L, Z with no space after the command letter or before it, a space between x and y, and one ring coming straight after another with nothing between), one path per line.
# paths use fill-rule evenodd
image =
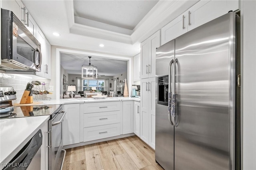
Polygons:
M66 149L63 170L163 170L137 136Z

